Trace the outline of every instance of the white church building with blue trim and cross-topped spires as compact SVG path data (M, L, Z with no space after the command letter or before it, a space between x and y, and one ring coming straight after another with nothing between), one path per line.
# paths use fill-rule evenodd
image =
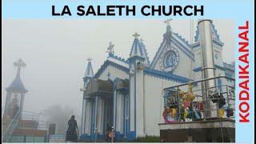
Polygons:
M234 78L234 63L223 62L222 46L211 23L216 76ZM158 123L164 122L165 106L162 89L202 79L202 54L196 31L190 44L171 29L166 33L152 62L146 45L134 34L129 58L114 55L110 43L109 56L94 74L91 59L83 78L81 138L104 138L111 127L118 140L132 140L145 135L159 135ZM218 85L225 82L218 81Z

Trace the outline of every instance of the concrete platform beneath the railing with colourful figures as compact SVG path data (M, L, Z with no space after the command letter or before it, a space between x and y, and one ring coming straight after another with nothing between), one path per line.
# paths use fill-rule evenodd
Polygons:
M235 122L229 118L160 123L162 142L234 142Z

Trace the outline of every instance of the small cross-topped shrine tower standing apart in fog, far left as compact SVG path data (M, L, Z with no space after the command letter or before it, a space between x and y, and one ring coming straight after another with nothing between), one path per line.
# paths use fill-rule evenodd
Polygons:
M17 67L17 74L14 81L6 88L6 105L4 110L4 117L13 118L15 114L21 114L24 105L26 90L25 86L22 83L21 79L21 70L22 67L25 67L26 64L22 59L18 59L17 62L14 62L14 66Z

